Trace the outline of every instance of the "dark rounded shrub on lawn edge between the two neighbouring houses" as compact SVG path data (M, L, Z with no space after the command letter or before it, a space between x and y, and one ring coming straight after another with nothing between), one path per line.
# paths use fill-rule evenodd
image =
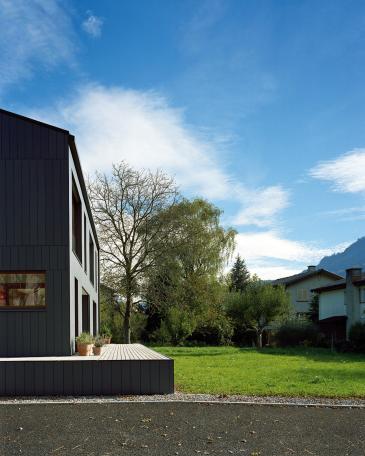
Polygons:
M309 322L286 322L279 327L275 340L281 347L295 345L318 346L323 344L323 334Z

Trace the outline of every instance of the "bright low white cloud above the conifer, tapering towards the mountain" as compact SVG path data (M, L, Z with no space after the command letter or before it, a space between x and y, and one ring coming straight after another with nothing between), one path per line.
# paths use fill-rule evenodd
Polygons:
M276 231L246 232L237 235L237 253L251 272L263 279L285 277L317 264L322 257L344 250L350 243L321 248L315 242L283 238Z

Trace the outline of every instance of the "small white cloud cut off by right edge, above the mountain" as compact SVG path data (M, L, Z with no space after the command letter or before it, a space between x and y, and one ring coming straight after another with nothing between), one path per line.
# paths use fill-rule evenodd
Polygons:
M345 193L365 192L365 149L353 149L334 160L319 163L309 171L315 179L330 181Z

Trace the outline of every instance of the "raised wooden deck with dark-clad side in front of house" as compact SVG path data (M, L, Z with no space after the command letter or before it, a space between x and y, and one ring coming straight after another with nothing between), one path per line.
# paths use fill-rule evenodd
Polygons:
M110 344L100 356L0 358L0 396L166 394L174 361L140 344Z

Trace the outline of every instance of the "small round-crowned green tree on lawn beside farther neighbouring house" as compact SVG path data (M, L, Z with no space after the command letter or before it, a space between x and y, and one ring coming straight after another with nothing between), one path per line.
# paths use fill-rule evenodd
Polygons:
M238 324L255 332L259 348L262 348L262 335L267 326L290 315L290 300L283 286L273 287L254 279L243 293L230 295L228 314Z

